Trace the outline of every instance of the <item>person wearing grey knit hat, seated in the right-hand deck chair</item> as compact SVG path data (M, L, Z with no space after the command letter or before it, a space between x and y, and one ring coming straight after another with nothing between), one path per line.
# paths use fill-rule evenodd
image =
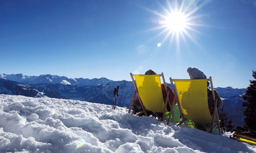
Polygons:
M196 67L193 67L193 68L188 67L187 73L190 79L206 79L206 75ZM207 82L207 87L208 86L209 86L209 82ZM215 97L217 98L217 109L220 109L223 105L222 100L219 96L219 93L216 90L214 90L214 93L215 93ZM208 96L208 108L209 108L210 114L212 115L214 113L214 99L212 97L212 93L209 88L207 88L207 96ZM202 131L208 131L210 127L209 123L198 123L198 122L194 122L194 123L195 123L195 128Z

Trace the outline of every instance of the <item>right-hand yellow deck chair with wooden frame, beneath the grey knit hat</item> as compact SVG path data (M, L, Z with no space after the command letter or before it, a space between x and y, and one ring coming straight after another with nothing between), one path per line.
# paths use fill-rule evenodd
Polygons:
M207 97L207 81L210 82L212 89L212 97L215 101L214 114L211 117L209 108L208 108L208 97ZM170 83L172 84L173 89L175 82L175 98L178 101L178 106L181 112L182 121L177 124L179 126L181 123L185 122L187 119L193 120L194 122L199 123L211 123L210 133L216 129L218 126L219 133L220 122L217 110L217 99L214 94L214 87L212 85L211 77L209 79L172 79L170 78ZM215 124L217 120L217 123Z

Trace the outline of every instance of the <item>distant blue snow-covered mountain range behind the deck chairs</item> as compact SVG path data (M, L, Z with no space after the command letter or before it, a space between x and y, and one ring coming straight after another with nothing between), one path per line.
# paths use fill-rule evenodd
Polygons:
M112 81L106 78L83 79L67 78L58 75L27 76L23 74L1 74L0 94L24 95L30 97L52 97L90 101L92 103L112 105L114 88L119 85L117 106L130 107L134 94L134 86L131 81ZM243 126L241 95L246 89L234 89L232 87L215 88L223 100L224 110L232 118L234 124Z

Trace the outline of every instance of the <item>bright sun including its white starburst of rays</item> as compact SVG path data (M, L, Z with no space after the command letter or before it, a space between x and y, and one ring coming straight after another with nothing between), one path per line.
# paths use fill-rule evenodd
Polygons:
M193 34L201 34L196 29L197 27L205 26L199 22L203 15L197 13L203 5L197 5L194 0L166 0L166 4L160 4L160 6L162 8L159 10L160 12L150 10L157 17L157 22L154 23L158 23L158 26L151 30L162 30L154 39L165 35L162 41L159 42L160 44L164 44L166 40L169 40L169 44L176 41L176 46L179 47L181 39L186 43L186 38L188 38L198 47L201 47L201 44L193 37Z

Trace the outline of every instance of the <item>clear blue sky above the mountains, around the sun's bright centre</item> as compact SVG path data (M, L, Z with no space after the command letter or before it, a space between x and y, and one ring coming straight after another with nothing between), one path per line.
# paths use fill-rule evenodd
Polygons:
M161 15L181 6L187 34L164 39ZM0 1L0 73L131 81L154 69L169 82L190 66L246 88L255 57L255 0Z

